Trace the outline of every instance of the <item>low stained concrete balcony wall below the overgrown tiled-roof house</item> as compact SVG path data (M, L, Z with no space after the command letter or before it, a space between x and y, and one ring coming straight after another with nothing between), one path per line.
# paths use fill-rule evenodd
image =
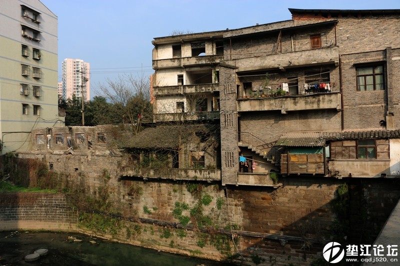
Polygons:
M196 181L220 181L221 170L219 169L178 169L165 168L153 169L150 167L120 167L119 176L140 177L145 179L170 179L170 180L196 180Z

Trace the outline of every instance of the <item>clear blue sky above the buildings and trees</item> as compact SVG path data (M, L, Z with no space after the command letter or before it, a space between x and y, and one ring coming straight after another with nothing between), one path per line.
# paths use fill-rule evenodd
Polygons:
M400 9L400 0L40 0L58 17L58 80L64 58L90 63L90 94L118 75L150 75L151 41L291 19L288 8Z

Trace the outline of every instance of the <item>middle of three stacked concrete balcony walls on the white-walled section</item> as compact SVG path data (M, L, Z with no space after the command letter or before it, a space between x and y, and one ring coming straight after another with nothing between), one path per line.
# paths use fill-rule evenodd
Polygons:
M219 83L153 87L154 96L219 91Z

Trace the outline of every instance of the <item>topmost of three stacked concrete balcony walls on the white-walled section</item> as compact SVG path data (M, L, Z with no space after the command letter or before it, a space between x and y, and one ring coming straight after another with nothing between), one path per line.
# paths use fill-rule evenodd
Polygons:
M169 68L169 67L184 67L191 65L207 65L219 63L223 59L223 54L191 56L153 60L153 69Z

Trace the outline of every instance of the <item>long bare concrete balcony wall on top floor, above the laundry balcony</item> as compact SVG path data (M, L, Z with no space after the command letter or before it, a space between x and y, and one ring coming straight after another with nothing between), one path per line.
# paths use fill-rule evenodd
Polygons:
M337 66L339 63L339 50L337 46L331 46L320 49L227 60L225 63L237 66L237 72L277 68L284 71L286 68L324 64L335 64Z

